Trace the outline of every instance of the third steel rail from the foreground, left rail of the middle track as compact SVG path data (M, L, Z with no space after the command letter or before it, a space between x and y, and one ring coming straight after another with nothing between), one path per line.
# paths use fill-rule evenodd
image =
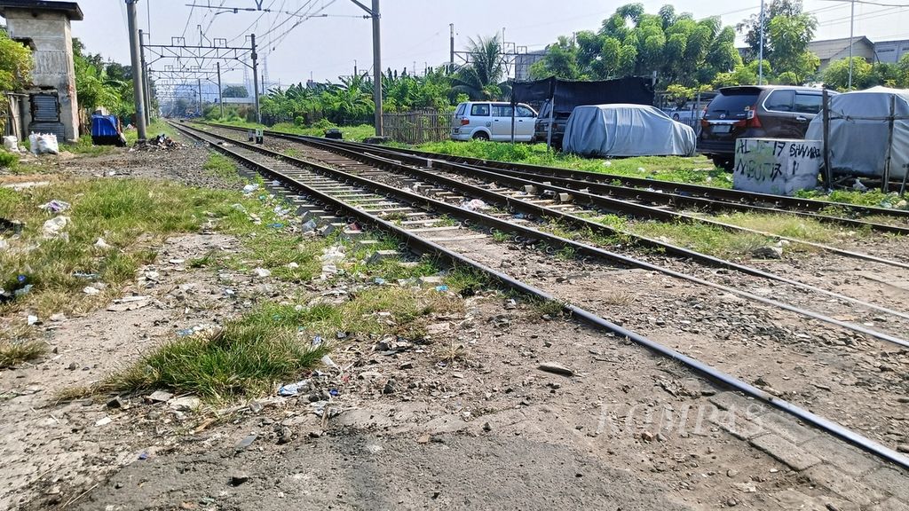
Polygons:
M310 143L310 144L315 144L315 142ZM320 142L318 142L318 144L327 145L328 143L320 141ZM419 168L415 168L415 167L407 166L407 165L401 165L399 162L396 162L394 160L388 160L388 159L382 158L381 156L369 155L368 153L357 153L356 151L353 151L353 150L346 150L346 149L343 149L343 150L339 149L339 150L341 150L345 155L347 155L347 157L352 157L352 158L360 157L361 160L365 160L366 163L369 163L371 165L385 164L385 166L392 166L393 168L395 168L395 170L397 170L399 172L405 172L409 175L414 175L415 177L423 179L427 182L434 182L437 185L444 185L446 187L449 187L450 189L458 190L461 193L464 193L465 195L480 196L493 204L504 205L505 207L510 207L515 210L522 211L529 215L552 216L555 218L566 220L573 225L588 227L592 231L601 232L601 233L605 233L608 235L619 234L619 235L629 235L632 237L637 237L638 239L642 240L644 242L644 244L653 245L655 247L664 249L667 252L671 252L676 255L683 255L685 257L691 257L691 258L694 258L695 260L702 261L711 266L724 267L726 269L733 269L736 271L743 272L747 275L759 276L762 278L771 279L771 280L781 282L781 283L784 283L787 285L798 287L800 289L803 289L804 291L810 291L813 293L822 294L824 296L830 296L830 297L836 298L838 300L848 302L848 303L851 303L851 304L854 304L857 306L868 307L870 309L876 310L878 312L881 312L881 313L884 313L887 315L898 316L898 317L902 317L904 319L909 319L909 314L904 313L902 311L897 311L897 310L894 310L894 309L891 309L888 307L884 307L884 306L878 306L876 304L865 302L863 300L859 300L859 299L853 298L851 296L844 296L839 293L829 291L822 287L805 284L805 283L799 282L797 280L786 278L784 276L778 276L778 275L775 275L770 272L766 272L766 271L758 269L758 268L753 268L751 266L744 266L744 265L740 265L737 263L733 263L731 261L720 259L720 258L714 257L712 255L704 255L704 254L695 252L695 251L687 249L687 248L682 248L682 247L678 247L675 245L666 244L664 242L661 242L658 240L653 240L650 238L635 236L630 233L626 233L626 232L622 232L622 231L615 231L612 227L609 227L606 225L601 225L601 224L598 224L595 222L591 222L590 220L587 220L587 219L579 217L579 216L570 215L570 214L564 213L562 211L557 211L554 209L546 208L541 205L534 205L532 203L525 202L525 201L515 198L515 197L498 194L496 192L485 189L483 187L467 185L463 182L456 181L456 180L453 180L451 178L448 178L448 177L445 177L442 175L437 175L435 173L428 172L428 171L425 171L425 170L422 170Z

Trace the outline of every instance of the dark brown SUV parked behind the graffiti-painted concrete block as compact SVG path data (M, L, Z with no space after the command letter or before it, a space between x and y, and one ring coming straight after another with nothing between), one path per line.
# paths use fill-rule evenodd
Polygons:
M736 138L804 138L823 103L821 89L811 87L724 87L707 105L697 152L732 170Z

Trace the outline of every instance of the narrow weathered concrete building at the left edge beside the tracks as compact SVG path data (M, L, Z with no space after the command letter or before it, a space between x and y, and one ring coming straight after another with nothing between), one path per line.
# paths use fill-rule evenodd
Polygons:
M62 125L66 140L79 136L79 102L75 94L75 65L71 21L82 21L75 2L0 0L10 37L32 48L35 90L23 109L26 133L54 132ZM58 136L61 134L57 134Z

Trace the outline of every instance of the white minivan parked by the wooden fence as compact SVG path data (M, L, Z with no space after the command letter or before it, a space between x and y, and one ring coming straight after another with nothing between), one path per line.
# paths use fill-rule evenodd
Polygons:
M536 112L518 104L514 112L514 141L534 138ZM470 101L457 105L452 119L452 140L494 140L511 142L512 105L506 102Z

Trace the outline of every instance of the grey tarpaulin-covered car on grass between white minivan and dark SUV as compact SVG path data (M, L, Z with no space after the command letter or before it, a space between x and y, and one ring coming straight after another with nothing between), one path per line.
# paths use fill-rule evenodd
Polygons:
M584 156L690 156L696 138L654 106L588 105L568 117L562 144L566 153Z

